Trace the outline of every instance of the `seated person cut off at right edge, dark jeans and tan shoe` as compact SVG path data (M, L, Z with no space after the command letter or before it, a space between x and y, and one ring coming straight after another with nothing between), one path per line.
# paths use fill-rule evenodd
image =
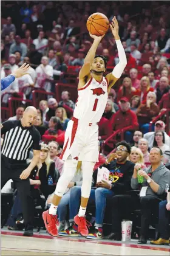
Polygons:
M170 186L170 181L169 181ZM159 203L159 212L158 212L158 234L160 238L158 238L155 241L151 241L151 244L163 244L163 245L169 245L169 232L168 232L168 226L169 226L169 216L168 211L170 211L170 191L169 188L167 188L167 197L165 201L161 201Z

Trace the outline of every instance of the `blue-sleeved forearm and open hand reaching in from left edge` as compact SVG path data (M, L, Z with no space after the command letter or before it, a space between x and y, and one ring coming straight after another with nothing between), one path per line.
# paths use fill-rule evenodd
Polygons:
M7 77L4 77L1 79L1 91L3 91L5 88L9 87L10 84L15 80L15 78L22 77L22 75L28 74L27 71L29 70L30 65L27 63L22 64L19 69L16 69L13 71L12 74L8 75Z

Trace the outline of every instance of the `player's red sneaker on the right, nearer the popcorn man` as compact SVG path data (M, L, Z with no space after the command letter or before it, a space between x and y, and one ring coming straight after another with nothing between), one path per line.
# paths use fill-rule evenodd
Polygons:
M78 226L78 232L82 237L87 237L89 235L88 227L92 226L89 221L86 221L86 217L79 217L76 215L74 217L75 224Z

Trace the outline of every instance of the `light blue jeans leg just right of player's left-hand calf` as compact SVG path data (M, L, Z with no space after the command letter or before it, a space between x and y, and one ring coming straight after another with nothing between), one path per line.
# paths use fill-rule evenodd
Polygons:
M67 206L69 205L69 200L70 193L66 193L65 195L63 195L63 198L61 198L60 204L58 204L57 212L60 222L66 220Z

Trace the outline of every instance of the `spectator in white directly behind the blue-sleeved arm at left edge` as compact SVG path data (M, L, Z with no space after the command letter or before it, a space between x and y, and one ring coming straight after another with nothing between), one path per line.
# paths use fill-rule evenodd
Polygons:
M4 77L7 77L8 75L12 74L11 71L11 66L10 64L4 64ZM4 78L1 76L1 78ZM8 92L8 94L5 94L5 92ZM15 92L19 92L19 88L18 88L18 81L17 79L15 79L15 81L13 81L10 86L8 86L6 89L3 90L2 92L2 103L7 103L8 99L9 99L9 94L13 94ZM3 94L5 94L3 96Z

